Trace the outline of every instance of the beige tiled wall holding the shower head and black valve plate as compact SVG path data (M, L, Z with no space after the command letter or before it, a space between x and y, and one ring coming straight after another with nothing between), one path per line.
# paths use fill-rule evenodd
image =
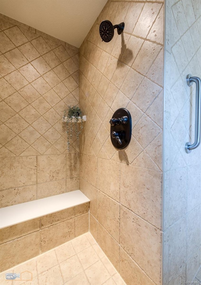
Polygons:
M99 25L125 22L102 42ZM80 47L80 189L90 232L128 285L161 284L163 1L108 1ZM132 115L126 150L111 144L109 120Z

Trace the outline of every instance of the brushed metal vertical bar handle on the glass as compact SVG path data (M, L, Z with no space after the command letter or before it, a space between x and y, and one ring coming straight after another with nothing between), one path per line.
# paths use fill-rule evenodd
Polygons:
M187 142L185 145L186 153L190 153L191 150L194 150L200 145L200 117L201 117L201 79L199 77L188 74L186 77L187 85L193 85L193 82L196 84L196 100L195 100L195 141L191 145L190 142Z

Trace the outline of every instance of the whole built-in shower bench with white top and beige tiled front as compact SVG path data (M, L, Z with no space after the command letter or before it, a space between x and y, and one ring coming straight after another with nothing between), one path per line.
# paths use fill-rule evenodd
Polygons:
M75 190L0 209L0 271L89 231L90 200Z

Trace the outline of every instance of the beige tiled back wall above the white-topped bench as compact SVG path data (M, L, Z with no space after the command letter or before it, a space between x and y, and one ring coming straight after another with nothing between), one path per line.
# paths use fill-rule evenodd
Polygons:
M66 105L79 101L79 50L0 15L1 207L79 189Z

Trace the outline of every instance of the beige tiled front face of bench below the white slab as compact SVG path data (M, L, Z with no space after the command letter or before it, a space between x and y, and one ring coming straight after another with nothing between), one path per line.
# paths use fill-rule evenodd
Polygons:
M0 230L0 271L89 231L89 203Z

